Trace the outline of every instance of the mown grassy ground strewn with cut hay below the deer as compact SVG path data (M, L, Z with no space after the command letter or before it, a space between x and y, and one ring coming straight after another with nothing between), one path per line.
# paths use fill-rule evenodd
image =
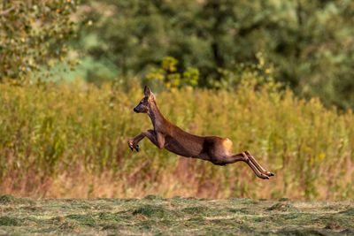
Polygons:
M354 202L0 197L0 235L353 235Z

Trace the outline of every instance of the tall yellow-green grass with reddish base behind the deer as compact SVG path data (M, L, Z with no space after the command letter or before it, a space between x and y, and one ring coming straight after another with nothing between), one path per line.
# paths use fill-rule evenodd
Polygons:
M354 116L289 90L243 83L236 92L157 95L177 126L234 141L273 171L257 179L246 164L215 166L127 140L151 128L132 108L142 89L116 84L0 84L0 194L53 197L342 199L354 197Z

